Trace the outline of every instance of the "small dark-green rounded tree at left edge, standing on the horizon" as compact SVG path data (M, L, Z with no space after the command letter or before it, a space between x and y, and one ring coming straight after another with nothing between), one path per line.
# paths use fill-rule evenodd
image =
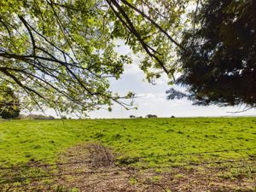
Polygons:
M16 118L20 114L19 99L9 87L0 86L0 116L3 119Z

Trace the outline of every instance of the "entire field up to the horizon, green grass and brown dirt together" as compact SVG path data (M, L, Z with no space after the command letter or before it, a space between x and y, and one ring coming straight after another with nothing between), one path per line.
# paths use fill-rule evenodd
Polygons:
M0 121L0 191L253 192L255 157L254 117Z

